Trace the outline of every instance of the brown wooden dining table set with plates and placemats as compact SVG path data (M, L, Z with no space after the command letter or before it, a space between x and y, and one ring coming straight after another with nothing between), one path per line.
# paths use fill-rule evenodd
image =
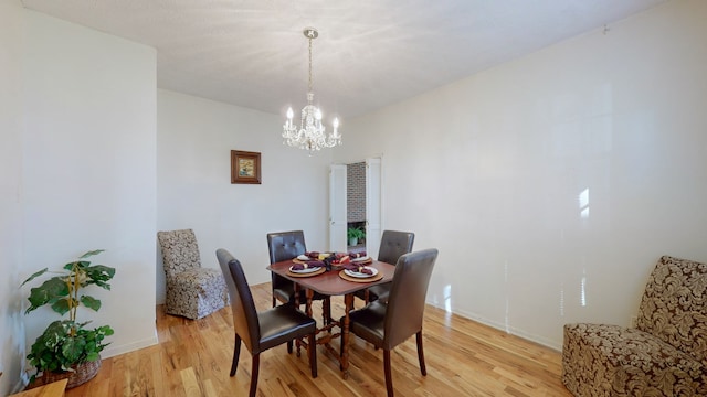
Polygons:
M304 303L306 304L305 312L307 315L312 316L312 300L315 292L330 297L344 296L345 314L341 321L331 319L330 324L325 324L325 326L318 328L317 330L317 333L321 333L325 331L330 332L333 326L338 325L341 331L340 334L333 335L329 333L327 335L318 337L317 343L324 344L327 350L334 353L335 356L338 356L342 377L344 379L347 379L349 376L349 312L354 308L354 296L357 291L392 281L393 273L395 272L395 266L379 260L370 260L365 262L363 265L367 268L374 269L371 270L376 272L374 276L351 277L351 272L346 272L346 269L339 266L333 266L331 270L323 267L316 271L313 270L309 272L294 272L291 269L296 262L296 258L283 260L270 265L267 267L267 270L293 281L295 285L295 291L299 291L300 289L305 290L306 302ZM299 293L295 293L295 297L298 296ZM296 305L299 305L299 303L302 302L295 301ZM336 353L328 344L333 336L339 335L341 336L340 355Z

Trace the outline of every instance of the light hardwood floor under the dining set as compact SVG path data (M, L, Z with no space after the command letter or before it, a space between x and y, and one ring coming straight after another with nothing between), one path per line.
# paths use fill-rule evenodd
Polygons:
M270 283L252 286L258 310L271 305ZM331 300L342 315L341 297ZM357 300L357 307L362 302ZM315 316L320 321L320 305ZM157 308L159 344L106 358L98 375L66 391L81 396L247 396L251 355L241 348L234 377L231 309L201 320L166 315ZM474 321L428 307L420 374L414 337L391 354L395 396L571 396L560 382L560 353ZM331 342L338 351L339 342ZM313 379L306 354L285 345L261 354L258 396L386 396L382 351L354 337L350 377L324 346L317 347L319 376Z

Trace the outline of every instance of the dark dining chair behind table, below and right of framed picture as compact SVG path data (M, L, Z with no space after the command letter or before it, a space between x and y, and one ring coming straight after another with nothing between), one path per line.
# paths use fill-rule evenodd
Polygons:
M307 250L305 244L305 234L302 230L292 232L277 232L267 234L267 250L270 251L270 262L276 264L278 261L296 258L298 255L304 254ZM295 285L282 276L277 276L271 272L271 283L273 287L273 307L277 304L277 301L283 303L294 303L295 301ZM299 291L298 301L299 304L306 301L305 291ZM314 300L321 300L321 309L324 314L324 322L328 324L331 321L331 308L328 296L319 293L314 294ZM292 345L287 345L288 350Z

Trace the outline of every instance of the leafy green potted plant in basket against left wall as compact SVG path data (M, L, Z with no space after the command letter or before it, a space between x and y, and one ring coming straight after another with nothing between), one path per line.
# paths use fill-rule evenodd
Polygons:
M78 322L76 312L80 305L94 311L101 309L101 300L84 294L84 288L94 285L110 290L108 281L115 276L115 269L104 265L91 265L91 261L85 260L103 251L88 251L78 257L78 260L64 265L61 271L44 268L22 282L24 286L45 273L54 273L55 276L41 286L30 290L30 307L24 313L28 314L43 305L50 305L62 318L68 313L68 320L53 321L32 344L27 358L36 368L36 373L31 376L31 384L40 386L68 378L66 387L72 388L92 379L98 373L101 352L108 345L103 341L106 336L113 335L113 329L109 325L86 328L91 321Z

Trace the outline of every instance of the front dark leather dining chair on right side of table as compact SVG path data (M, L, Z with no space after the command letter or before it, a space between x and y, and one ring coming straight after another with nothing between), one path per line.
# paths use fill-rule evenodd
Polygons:
M437 250L434 248L401 256L395 265L388 301L372 301L349 314L349 331L383 350L388 396L393 396L390 352L412 335L415 335L418 341L420 372L422 375L428 374L422 350L422 320L428 286L436 258Z

